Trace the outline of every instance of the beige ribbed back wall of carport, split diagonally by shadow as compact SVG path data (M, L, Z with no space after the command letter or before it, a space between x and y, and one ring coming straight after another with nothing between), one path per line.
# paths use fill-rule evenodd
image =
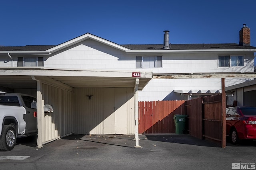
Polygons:
M75 133L135 133L132 88L76 88L74 94Z

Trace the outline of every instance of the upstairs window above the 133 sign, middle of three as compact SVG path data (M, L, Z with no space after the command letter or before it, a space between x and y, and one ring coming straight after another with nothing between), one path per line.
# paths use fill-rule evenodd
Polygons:
M136 68L161 68L162 56L137 56Z

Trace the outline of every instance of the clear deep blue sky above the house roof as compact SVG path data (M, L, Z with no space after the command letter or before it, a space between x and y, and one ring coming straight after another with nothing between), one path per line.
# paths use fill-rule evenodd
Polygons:
M0 46L58 45L84 33L118 44L239 43L256 46L255 0L5 0Z

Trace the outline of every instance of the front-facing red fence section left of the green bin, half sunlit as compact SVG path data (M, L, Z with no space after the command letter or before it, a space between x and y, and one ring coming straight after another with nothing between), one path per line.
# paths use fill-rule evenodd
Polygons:
M185 114L184 102L139 102L139 133L175 133L173 116Z

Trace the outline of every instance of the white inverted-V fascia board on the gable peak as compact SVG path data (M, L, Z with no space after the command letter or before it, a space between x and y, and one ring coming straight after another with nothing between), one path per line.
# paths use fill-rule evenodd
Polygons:
M66 48L66 47L70 47L71 45L80 43L80 42L82 42L82 41L84 41L84 40L86 40L86 39L92 39L92 40L94 40L94 41L98 41L98 42L100 42L100 43L103 43L103 44L109 45L109 46L111 46L111 47L114 47L114 48L116 48L116 49L120 49L120 50L122 50L122 51L129 51L129 50L130 50L130 49L127 49L127 48L125 48L125 47L122 47L121 45L118 45L118 44L116 44L116 43L112 43L111 41L108 41L108 40L106 40L106 39L102 39L102 38L97 37L97 36L95 36L95 35L92 35L92 34L90 34L90 33L86 33L86 34L84 34L84 35L82 35L82 36L80 36L80 37L74 38L74 39L72 39L72 40L70 40L70 41L67 41L67 42L62 43L62 44L60 44L60 45L57 45L57 46L55 46L55 47L53 47L53 48L51 48L51 49L48 49L48 51L50 51L51 53L54 53L54 52L56 52L56 51L59 51L59 50L61 50L61 49Z

